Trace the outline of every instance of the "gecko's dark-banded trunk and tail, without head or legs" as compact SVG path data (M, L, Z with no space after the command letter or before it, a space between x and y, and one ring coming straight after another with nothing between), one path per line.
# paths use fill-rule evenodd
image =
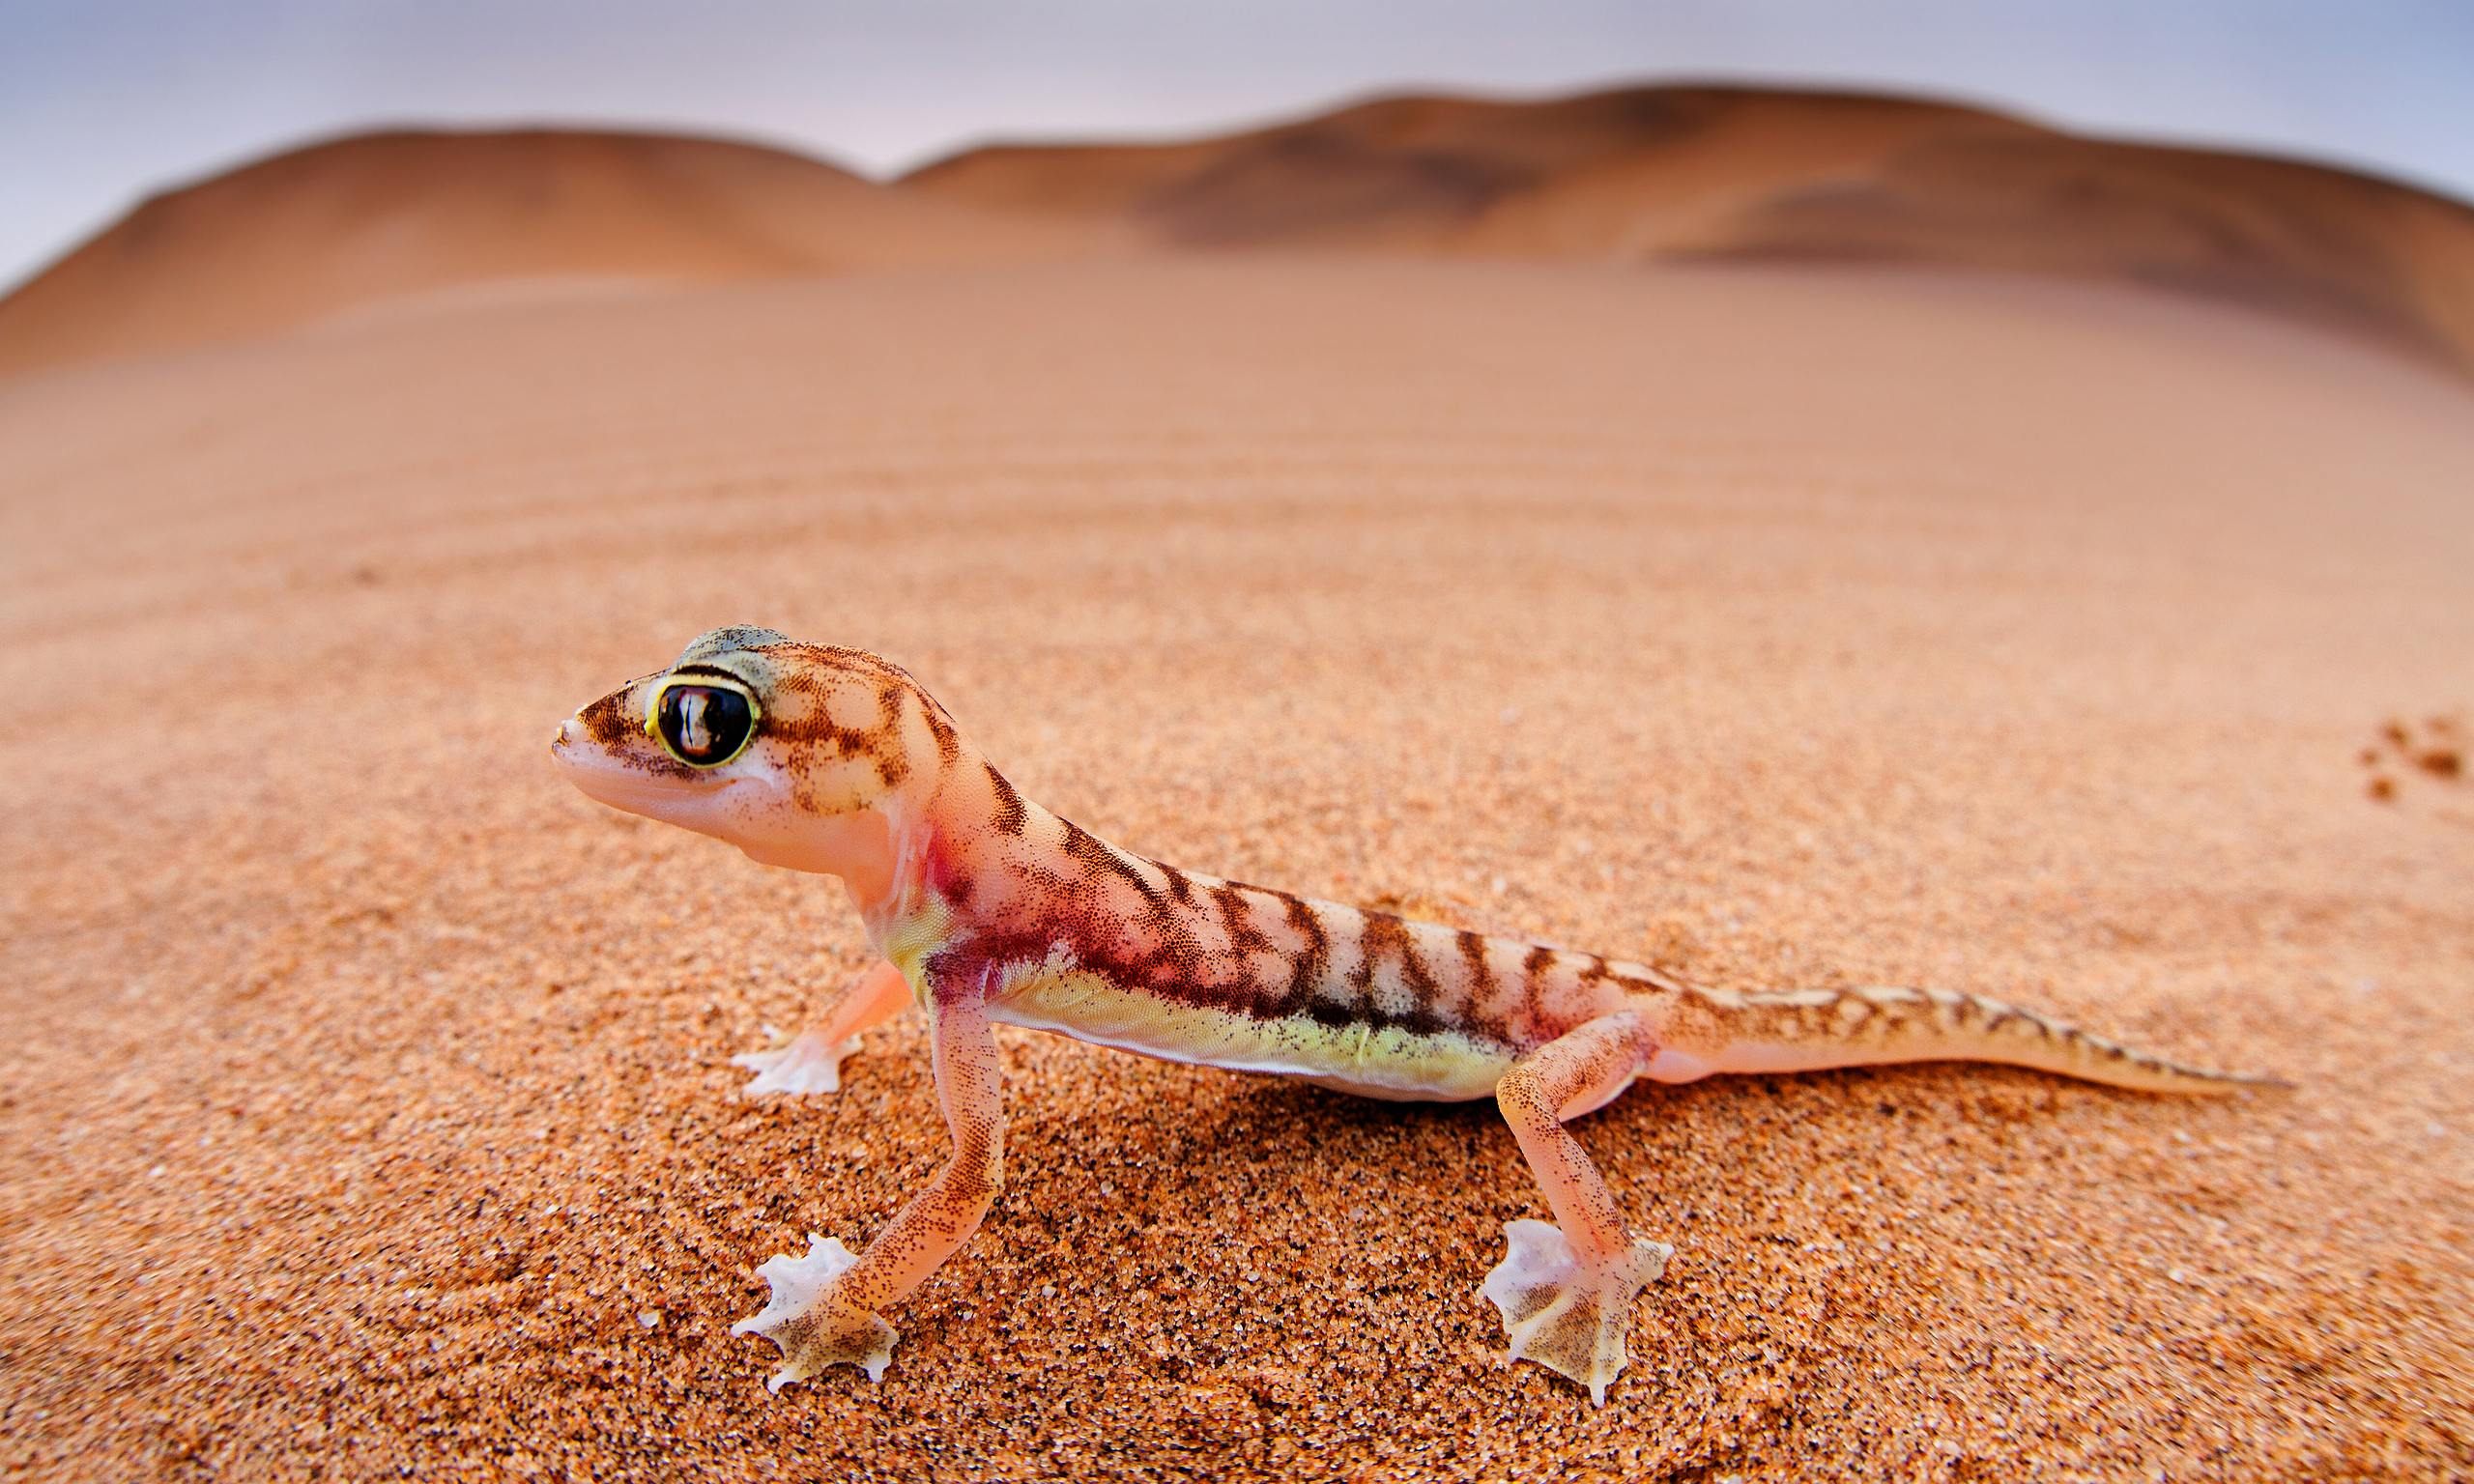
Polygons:
M992 846L950 893L943 965L997 1019L1084 1041L1306 1076L1376 1098L1484 1098L1596 1017L1658 1026L1643 1076L2009 1061L2115 1086L2232 1086L1957 992L1732 992L1638 962L1479 935L1180 871L1024 801L985 767Z

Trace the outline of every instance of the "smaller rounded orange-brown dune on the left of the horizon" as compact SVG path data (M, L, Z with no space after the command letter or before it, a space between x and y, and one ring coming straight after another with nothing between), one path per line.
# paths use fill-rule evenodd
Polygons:
M596 131L369 134L156 195L0 299L0 373L242 339L391 299L1094 252L821 161Z

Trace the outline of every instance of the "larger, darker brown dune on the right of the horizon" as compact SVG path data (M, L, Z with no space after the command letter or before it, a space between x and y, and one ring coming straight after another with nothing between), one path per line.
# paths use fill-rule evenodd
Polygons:
M2474 366L2474 210L2291 161L1912 99L1385 99L1170 146L992 146L905 186L1173 245L1801 257L2123 282Z

